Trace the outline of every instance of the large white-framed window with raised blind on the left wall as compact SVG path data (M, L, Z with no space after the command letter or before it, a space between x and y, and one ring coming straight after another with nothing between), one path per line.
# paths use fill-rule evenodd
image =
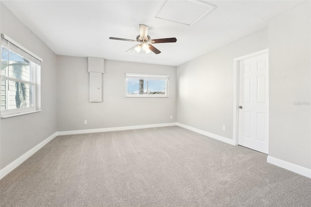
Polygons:
M39 111L41 59L2 34L1 117Z

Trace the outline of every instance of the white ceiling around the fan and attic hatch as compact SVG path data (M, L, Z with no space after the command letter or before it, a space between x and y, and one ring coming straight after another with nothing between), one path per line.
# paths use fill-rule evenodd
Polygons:
M268 20L304 2L298 0L201 0L216 8L192 27L155 18L161 0L9 0L1 2L59 55L178 66L268 26ZM177 12L178 7L172 8ZM154 46L160 54L126 52L138 24L152 39L176 37Z

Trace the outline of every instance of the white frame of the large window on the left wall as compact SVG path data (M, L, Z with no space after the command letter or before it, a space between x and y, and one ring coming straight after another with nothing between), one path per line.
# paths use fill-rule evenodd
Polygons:
M20 44L18 44L16 41L14 41L13 39L11 39L10 37L8 37L7 35L2 34L1 35L2 39L5 39L6 41L9 42L10 45L14 45L15 49L14 50L10 50L10 48L8 48L10 51L17 53L18 55L24 57L25 59L29 60L32 64L32 69L34 71L32 71L32 81L24 81L24 80L20 80L17 78L13 78L13 77L8 77L9 73L7 71L7 76L1 75L1 79L5 79L7 80L7 84L6 84L6 91L7 91L7 95L8 95L8 85L9 85L9 81L18 81L21 83L26 83L26 84L31 84L34 85L34 92L33 92L33 106L32 107L22 107L22 108L16 108L16 109L4 109L1 110L1 118L9 118L9 117L14 117L14 116L19 116L19 115L24 115L24 114L30 114L30 113L35 113L35 112L39 112L42 111L41 110L41 88L40 88L40 77L41 77L41 62L42 59L40 57L38 57L37 55L35 55L34 53L30 52L29 50L27 50L26 48L24 48L23 46L21 46ZM3 42L1 43L1 46L3 45ZM5 48L7 48L6 46L4 46ZM20 50L20 52L18 51ZM35 60L35 61L33 61ZM39 65L37 65L39 64ZM8 106L8 98L6 99L6 105Z

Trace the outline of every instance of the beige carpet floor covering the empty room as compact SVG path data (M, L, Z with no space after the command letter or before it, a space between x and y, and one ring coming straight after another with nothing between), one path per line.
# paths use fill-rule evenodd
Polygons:
M58 136L0 180L1 207L310 207L311 179L172 126Z

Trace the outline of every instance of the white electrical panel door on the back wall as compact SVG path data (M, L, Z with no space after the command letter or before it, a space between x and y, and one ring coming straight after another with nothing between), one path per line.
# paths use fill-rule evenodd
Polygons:
M102 102L102 76L101 72L89 72L89 102Z

